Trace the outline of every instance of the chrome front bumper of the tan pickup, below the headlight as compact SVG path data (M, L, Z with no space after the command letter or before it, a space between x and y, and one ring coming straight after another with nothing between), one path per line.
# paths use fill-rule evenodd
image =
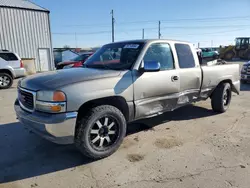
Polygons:
M27 112L15 102L15 111L18 120L41 137L57 143L74 143L77 112L62 114L47 114L42 112Z

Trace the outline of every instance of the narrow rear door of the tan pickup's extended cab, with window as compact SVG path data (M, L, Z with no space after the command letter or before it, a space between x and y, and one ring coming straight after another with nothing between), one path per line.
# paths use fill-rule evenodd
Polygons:
M189 44L176 43L175 49L178 57L180 76L180 98L179 105L192 102L200 92L202 83L201 68L194 50Z

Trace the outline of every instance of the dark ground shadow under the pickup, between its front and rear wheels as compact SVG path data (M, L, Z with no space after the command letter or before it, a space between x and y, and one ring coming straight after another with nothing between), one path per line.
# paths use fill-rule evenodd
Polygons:
M143 119L131 123L128 125L127 134L131 135L140 131L147 131L162 123L167 123L170 121L185 121L214 115L217 114L210 109L206 109L200 106L188 105L153 118Z

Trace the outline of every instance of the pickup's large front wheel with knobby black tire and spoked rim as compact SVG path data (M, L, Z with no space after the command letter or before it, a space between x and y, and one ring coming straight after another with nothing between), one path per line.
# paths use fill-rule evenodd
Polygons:
M106 118L110 118L112 119L113 122L115 122L115 124L112 127L116 128L116 131L113 131L113 132L117 132L116 135L115 134L109 135L109 132L111 132L111 129L113 129L113 128L109 128L109 126L113 124L113 122L110 121L112 123L109 124L109 126L107 126L108 123L106 123L106 126L105 126L105 122L102 121L102 118L105 119L105 122L106 122ZM101 134L100 130L102 128L100 128L99 124L97 123L98 121L99 123L101 121L103 122L102 128L105 128L105 127L108 128L107 136L109 137L109 141L113 142L111 145L109 145L110 143L108 142L107 139L104 139L106 138L105 135L100 135ZM93 129L93 127L95 126L98 126L97 130ZM113 154L119 148L119 146L121 145L123 141L123 138L126 135L126 129L127 129L127 124L126 124L125 117L119 109L117 109L114 106L109 106L109 105L97 106L95 108L92 108L87 115L85 115L84 117L80 119L80 124L79 124L78 129L76 130L76 135L75 135L75 145L81 151L81 153L88 158L95 159L95 160L105 158ZM92 131L99 131L99 132L92 133ZM92 137L94 134L96 134L96 137L95 136ZM99 137L99 140L96 140L97 137ZM104 140L102 142L102 145L104 146L104 143L106 142L106 145L108 144L107 147L100 147L101 139ZM99 143L99 147L95 145L95 144L98 145L98 143Z

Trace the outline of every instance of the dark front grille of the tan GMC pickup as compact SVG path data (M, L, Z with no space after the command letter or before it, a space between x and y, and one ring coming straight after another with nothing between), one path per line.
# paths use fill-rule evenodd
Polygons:
M18 89L18 100L28 110L34 109L34 96L32 93Z

